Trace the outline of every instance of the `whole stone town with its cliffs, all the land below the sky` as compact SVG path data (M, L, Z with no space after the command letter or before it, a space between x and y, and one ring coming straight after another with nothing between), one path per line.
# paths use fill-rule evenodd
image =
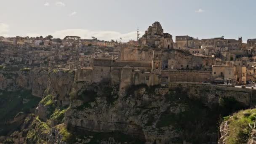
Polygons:
M0 37L0 143L255 143L256 39L137 37Z

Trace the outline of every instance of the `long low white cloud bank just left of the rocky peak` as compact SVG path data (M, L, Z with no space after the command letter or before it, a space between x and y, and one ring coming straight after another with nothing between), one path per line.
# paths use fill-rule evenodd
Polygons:
M142 32L140 32L142 34ZM91 37L96 37L98 40L120 40L120 37L122 37L123 42L127 42L129 40L136 40L136 34L137 32L129 32L122 34L120 32L116 31L91 31L88 29L65 29L65 30L60 30L56 31L52 34L53 37L59 37L59 38L64 38L67 35L75 35L79 36L82 39L91 39Z

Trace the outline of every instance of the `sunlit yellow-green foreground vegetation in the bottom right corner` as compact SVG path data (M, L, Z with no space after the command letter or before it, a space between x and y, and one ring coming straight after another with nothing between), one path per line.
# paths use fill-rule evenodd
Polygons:
M249 115L244 115L248 113ZM249 124L253 124L256 120L256 109L247 109L233 114L228 119L229 123L229 136L227 137L227 144L243 144L247 143L250 138L251 129Z

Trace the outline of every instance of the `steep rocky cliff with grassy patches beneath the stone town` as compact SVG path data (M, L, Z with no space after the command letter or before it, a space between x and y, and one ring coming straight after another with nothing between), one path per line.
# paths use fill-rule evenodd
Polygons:
M46 73L40 75L46 78L35 80L19 70L8 79L13 87L27 88L30 93L33 89L38 90L38 85L45 86L41 90L43 99L35 111L16 114L13 120L21 121L20 127L0 141L49 144L216 143L221 117L248 108L253 94L252 90L179 83L169 87L131 86L125 93L120 93L118 85L107 81L77 82L73 71L27 72L32 76Z

